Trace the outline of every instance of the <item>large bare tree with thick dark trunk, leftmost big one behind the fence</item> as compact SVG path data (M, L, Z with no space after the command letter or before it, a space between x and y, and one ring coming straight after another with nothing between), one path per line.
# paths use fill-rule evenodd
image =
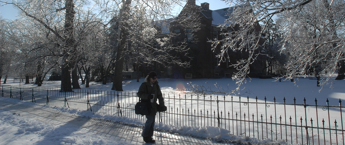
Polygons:
M71 84L73 88L80 88L77 71L72 71L71 82L71 70L76 68L79 59L77 48L81 42L76 37L78 35L75 27L83 23L81 21L77 23L76 19L82 20L79 18L88 18L84 16L92 14L92 10L84 11L83 6L89 4L88 1L12 1L4 3L12 4L20 10L23 16L30 18L39 27L44 28L47 36L55 38L54 44L59 48L56 51L59 51L58 54L62 57L60 91L72 91Z

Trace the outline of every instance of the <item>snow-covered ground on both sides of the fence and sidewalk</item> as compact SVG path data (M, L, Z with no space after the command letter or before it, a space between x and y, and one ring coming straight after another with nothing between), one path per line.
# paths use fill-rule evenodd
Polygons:
M123 85L125 91L137 91L140 84L144 79L140 79L140 82L136 80L128 80L126 84ZM217 91L214 84L221 86L222 88L235 89L235 82L232 79L158 79L161 90L164 93L181 93L177 91L178 89L188 88L189 84L198 84L201 86L210 85L210 89ZM2 82L2 81L1 81ZM47 81L42 87L60 87L59 81ZM282 80L281 82L275 81L275 79L257 79L253 78L248 80L245 84L245 88L242 88L239 95L248 96L249 98L266 98L272 100L276 97L280 103L282 103L282 98L286 97L288 99L293 99L295 97L298 102L302 102L304 98L307 100L307 104L313 104L315 98L319 100L318 103L325 105L325 100L328 98L329 105L339 105L339 99L345 99L345 81L344 80L332 80L329 82L331 84L324 85L322 87L316 86L316 80L310 78L299 78L295 79L295 83L289 80ZM3 84L1 84L3 85ZM33 84L23 84L19 83L18 80L13 83L13 80L8 80L6 85L21 85L21 86L36 86ZM98 90L110 90L112 84L102 85L101 83L91 83L89 89ZM84 85L81 85L85 88ZM320 90L322 88L322 90ZM233 94L238 96L238 94ZM278 99L279 98L279 99ZM77 116L87 116L93 118L110 119L113 121L121 121L129 124L131 126L136 126L140 128L143 122L136 119L121 118L108 115L92 114L86 111L79 111L73 109L59 108L59 107L49 107L39 104L31 104L27 102L21 102L20 100L0 98L1 102L12 102L13 104L20 104L19 106L34 106L33 108L48 108L56 110L57 112L67 112L69 114L75 114ZM35 107L36 106L36 107ZM66 126L61 123L53 124L49 122L44 122L42 120L34 120L30 116L22 116L18 113L9 112L5 109L3 105L0 105L0 144L142 144L143 142L139 140L138 142L132 142L124 140L121 137L111 136L106 137L102 135L95 134L85 129L78 129L80 125L77 126ZM28 107L30 108L30 107ZM82 119L81 119L82 120ZM340 122L340 121L339 121ZM71 129L72 128L72 129ZM241 137L241 136L230 136L224 130L217 129L216 127L171 127L164 124L157 124L156 129L169 132L172 135L188 134L191 136L203 137L203 138L214 138L222 139L223 144L233 141L238 142L251 142L254 144L267 143L267 141L259 141L254 138ZM140 131L139 131L140 132ZM157 137L166 137L168 134L159 135L159 132L155 133ZM222 134L223 133L223 136ZM137 134L130 135L128 138L140 136ZM170 134L171 135L171 134ZM138 137L139 136L139 137ZM165 144L176 144L176 142L169 142L169 138L166 137ZM141 138L140 138L141 139ZM228 140L227 140L228 139ZM163 141L164 139L161 139ZM216 142L209 142L211 144L216 144ZM283 141L275 142L284 143ZM222 144L222 143L221 143Z

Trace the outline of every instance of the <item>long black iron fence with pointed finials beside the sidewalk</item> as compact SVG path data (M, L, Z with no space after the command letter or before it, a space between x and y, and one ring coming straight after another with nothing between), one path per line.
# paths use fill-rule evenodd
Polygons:
M2 97L145 121L145 117L134 113L138 101L134 92L88 89L60 92L56 88L6 85L1 85L1 91ZM269 101L266 97L165 94L164 98L168 110L157 117L157 122L164 124L215 126L233 135L283 140L290 144L344 145L341 99L332 99L332 104L335 101L339 104L336 106L330 105L328 99L319 103L317 99L304 98L302 103L296 103L296 98L285 97Z

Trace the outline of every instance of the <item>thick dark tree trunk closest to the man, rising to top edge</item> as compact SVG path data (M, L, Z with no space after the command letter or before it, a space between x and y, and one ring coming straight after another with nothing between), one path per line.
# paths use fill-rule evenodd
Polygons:
M116 65L115 65L115 72L114 72L114 82L112 84L112 90L123 91L122 89L122 69L124 68L124 50L126 47L127 41L127 29L128 26L127 20L129 19L129 10L131 0L126 0L124 6L120 10L119 14L119 45L117 48L116 54Z

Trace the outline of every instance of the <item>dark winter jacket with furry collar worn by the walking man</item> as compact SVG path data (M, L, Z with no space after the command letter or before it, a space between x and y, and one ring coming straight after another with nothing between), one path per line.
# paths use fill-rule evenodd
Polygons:
M137 95L142 101L150 101L148 100L148 96L150 94L155 94L153 103L151 103L151 110L154 110L151 112L151 115L155 115L157 113L157 99L159 106L162 107L164 106L164 98L162 92L160 91L158 81L156 80L152 87L147 76L145 78L145 82L140 85Z

